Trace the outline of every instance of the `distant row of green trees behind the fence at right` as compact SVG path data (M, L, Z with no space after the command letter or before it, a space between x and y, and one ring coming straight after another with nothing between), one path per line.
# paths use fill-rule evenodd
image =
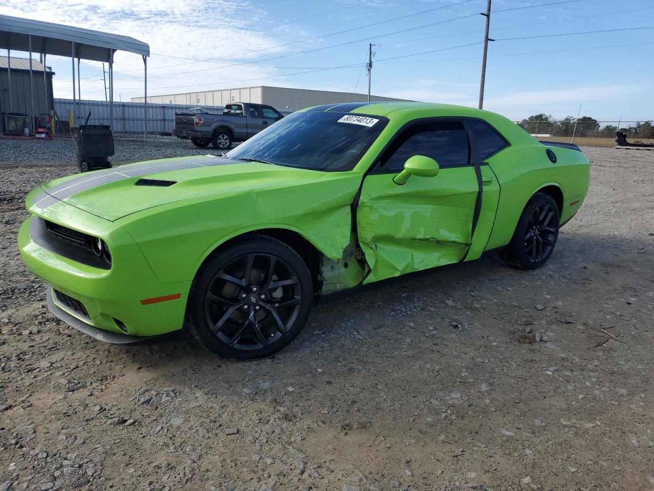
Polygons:
M628 136L640 138L654 138L654 124L651 121L638 122L631 126L621 127L618 130L615 124L601 126L598 120L590 116L584 116L577 120L577 129L574 130L575 117L568 116L563 119L553 118L545 113L530 116L518 124L527 132L535 134L551 134L552 136L575 136L587 137L615 137L615 132L621 131Z

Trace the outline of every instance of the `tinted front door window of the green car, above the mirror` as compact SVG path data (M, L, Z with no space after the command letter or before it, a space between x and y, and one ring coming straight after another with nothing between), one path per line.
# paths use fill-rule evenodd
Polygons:
M382 158L382 170L400 172L413 155L431 157L441 168L470 165L470 145L463 123L443 121L407 128Z

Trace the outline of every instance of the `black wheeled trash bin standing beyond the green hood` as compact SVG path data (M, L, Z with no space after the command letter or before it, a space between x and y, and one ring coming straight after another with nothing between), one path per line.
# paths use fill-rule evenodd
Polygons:
M111 167L107 157L114 155L114 135L109 124L80 124L71 132L80 172Z

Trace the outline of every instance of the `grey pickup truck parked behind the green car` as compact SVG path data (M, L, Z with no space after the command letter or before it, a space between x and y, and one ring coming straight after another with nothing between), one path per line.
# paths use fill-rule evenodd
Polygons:
M175 113L175 130L178 138L190 138L196 147L229 150L235 141L245 141L265 130L283 116L269 105L232 102L225 105L222 115L196 107L188 113Z

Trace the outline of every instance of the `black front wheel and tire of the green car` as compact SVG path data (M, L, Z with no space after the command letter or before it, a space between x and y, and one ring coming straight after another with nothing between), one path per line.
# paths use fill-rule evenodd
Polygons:
M256 359L279 352L300 334L312 302L311 274L298 253L277 239L252 234L202 266L186 319L207 350Z

